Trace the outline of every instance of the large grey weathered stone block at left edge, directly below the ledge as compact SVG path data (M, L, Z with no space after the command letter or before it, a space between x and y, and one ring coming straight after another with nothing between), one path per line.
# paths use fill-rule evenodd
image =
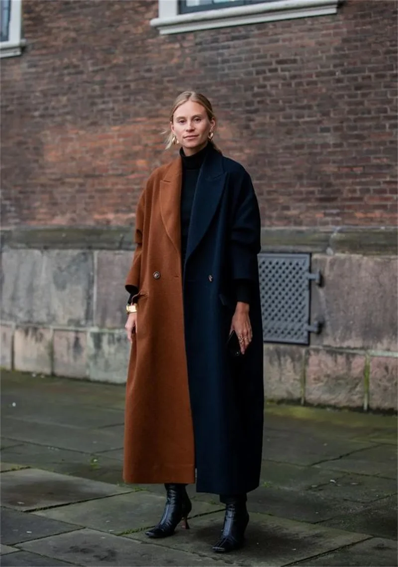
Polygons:
M2 273L2 319L35 325L92 324L92 252L10 249L2 254Z

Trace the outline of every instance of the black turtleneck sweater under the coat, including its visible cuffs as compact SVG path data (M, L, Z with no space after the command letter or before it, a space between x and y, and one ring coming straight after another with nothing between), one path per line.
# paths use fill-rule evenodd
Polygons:
M202 150L193 155L185 155L183 149L180 149L181 161L183 164L183 179L181 184L181 264L184 271L185 255L187 253L188 232L190 215L192 213L193 199L195 196L196 185L200 173L200 168L210 149L208 143ZM236 301L250 303L250 281L235 280ZM132 302L133 296L138 293L137 289L129 289L129 303Z

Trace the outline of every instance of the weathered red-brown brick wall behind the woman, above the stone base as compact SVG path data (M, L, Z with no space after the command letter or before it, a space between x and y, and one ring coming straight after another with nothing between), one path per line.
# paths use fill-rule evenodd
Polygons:
M159 36L157 1L24 0L2 60L2 226L124 225L175 95L204 92L266 226L396 223L397 3Z

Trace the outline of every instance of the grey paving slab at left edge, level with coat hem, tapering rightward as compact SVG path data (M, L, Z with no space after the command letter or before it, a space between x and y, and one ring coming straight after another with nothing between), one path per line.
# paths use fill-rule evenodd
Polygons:
M131 489L55 472L26 468L1 475L2 505L16 510L35 510L71 502L104 498Z

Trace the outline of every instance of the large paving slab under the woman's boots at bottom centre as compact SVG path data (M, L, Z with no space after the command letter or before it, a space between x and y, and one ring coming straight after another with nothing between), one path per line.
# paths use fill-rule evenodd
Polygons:
M366 538L363 534L349 534L341 530L324 530L303 522L275 518L267 514L250 514L246 532L246 545L242 550L226 557L238 565L278 566L311 557L349 545ZM172 538L159 541L159 545L200 553L215 560L218 556L211 545L222 530L223 512L193 518L190 530L179 530ZM145 541L143 532L128 536Z

